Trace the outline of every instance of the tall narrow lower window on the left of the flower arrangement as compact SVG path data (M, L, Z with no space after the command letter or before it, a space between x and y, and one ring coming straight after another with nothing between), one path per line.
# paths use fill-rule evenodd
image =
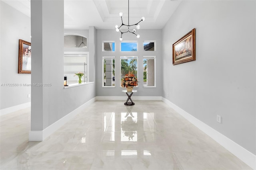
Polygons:
M103 57L103 87L114 87L115 80L115 57Z

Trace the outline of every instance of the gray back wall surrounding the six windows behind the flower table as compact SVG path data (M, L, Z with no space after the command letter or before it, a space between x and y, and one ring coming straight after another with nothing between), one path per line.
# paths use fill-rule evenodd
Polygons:
M141 25L143 27L143 23ZM134 96L161 96L162 95L162 30L161 29L140 29L138 30L140 38L135 35L123 35L123 41L138 41L138 51L120 52L120 33L115 29L96 30L96 96L124 96L123 88L120 88L120 56L138 56L138 90ZM115 52L102 51L102 41L115 41ZM143 41L156 41L156 51L144 51ZM143 56L156 56L156 88L143 87ZM114 88L102 87L102 57L115 56L115 79Z

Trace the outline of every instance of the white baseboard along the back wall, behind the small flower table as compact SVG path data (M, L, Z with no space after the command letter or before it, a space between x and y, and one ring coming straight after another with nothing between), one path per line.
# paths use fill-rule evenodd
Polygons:
M96 96L96 100L127 100L127 96ZM132 96L132 100L162 100L161 96Z

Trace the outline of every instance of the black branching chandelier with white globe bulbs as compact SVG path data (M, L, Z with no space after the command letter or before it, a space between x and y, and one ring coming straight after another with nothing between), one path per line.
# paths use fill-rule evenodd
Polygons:
M132 34L136 35L137 38L140 38L140 35L136 34L135 32L136 32L136 29L140 29L140 25L138 25L138 23L140 23L141 21L145 21L145 17L142 17L141 20L138 21L137 23L130 25L130 23L129 23L129 0L128 0L128 25L124 24L124 22L123 22L123 18L122 18L123 13L122 12L119 12L119 16L121 17L121 20L122 20L122 25L120 27L118 27L118 25L116 25L116 32L120 32L121 33L121 37L119 38L119 40L120 41L123 40L123 38L122 38L123 33L132 33ZM134 26L134 25L136 25L136 29L132 29L132 31L130 31L130 27ZM128 27L128 31L124 31L123 32L120 29L122 26Z

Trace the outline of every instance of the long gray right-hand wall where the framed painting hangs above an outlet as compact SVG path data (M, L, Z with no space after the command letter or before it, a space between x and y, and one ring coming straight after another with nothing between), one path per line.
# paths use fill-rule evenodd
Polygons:
M163 97L253 154L255 3L182 1L163 29L162 60ZM196 61L172 65L172 44L193 28Z

